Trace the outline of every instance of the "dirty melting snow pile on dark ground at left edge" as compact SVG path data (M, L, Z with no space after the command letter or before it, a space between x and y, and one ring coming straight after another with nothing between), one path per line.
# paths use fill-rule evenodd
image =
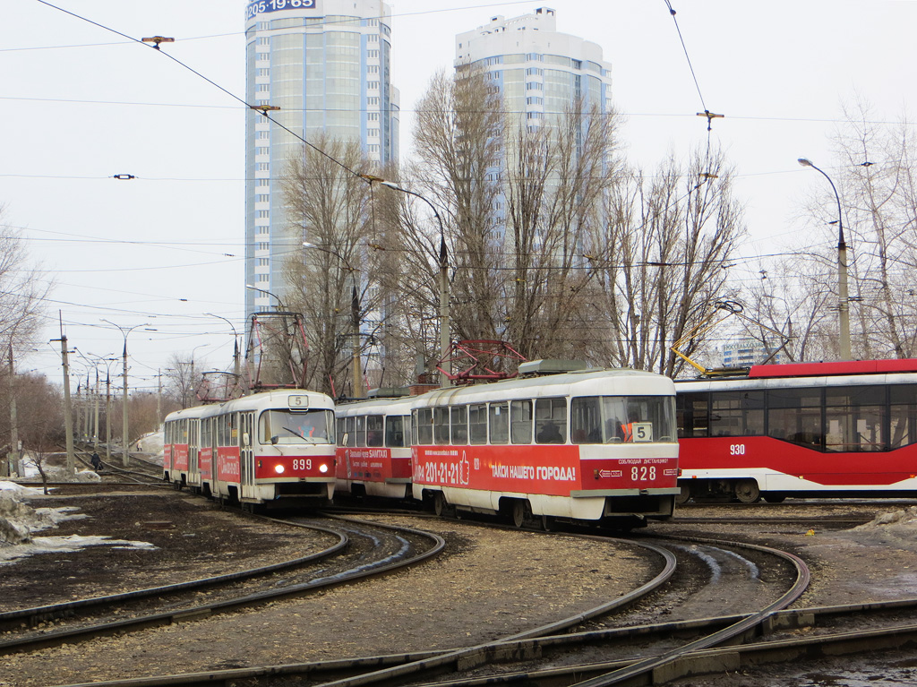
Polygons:
M145 541L125 541L106 536L34 537L34 532L56 527L63 520L86 517L74 513L77 508L32 508L25 503L41 493L40 489L14 482L0 482L0 565L33 554L66 553L90 546L156 548Z

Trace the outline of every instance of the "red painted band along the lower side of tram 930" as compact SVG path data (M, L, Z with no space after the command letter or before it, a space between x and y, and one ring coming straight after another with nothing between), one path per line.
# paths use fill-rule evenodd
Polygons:
M889 486L917 475L917 445L891 451L822 451L773 437L706 437L679 441L679 467L691 471L761 470L823 484ZM828 438L830 447L831 438ZM685 476L690 476L686 474Z

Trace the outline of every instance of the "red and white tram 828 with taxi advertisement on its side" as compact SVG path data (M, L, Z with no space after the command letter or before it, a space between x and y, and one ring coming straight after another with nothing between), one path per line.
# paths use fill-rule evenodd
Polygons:
M679 493L674 395L667 377L633 370L425 393L414 399L414 498L516 526L527 515L616 526L668 518Z

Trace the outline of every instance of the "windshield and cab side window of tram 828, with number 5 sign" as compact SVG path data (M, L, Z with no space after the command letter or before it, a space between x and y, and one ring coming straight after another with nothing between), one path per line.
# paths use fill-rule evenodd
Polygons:
M583 396L570 402L574 444L673 443L672 396Z

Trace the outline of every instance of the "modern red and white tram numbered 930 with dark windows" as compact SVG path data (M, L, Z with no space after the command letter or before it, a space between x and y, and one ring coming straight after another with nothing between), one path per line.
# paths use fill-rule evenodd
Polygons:
M679 501L917 495L917 360L676 382Z

